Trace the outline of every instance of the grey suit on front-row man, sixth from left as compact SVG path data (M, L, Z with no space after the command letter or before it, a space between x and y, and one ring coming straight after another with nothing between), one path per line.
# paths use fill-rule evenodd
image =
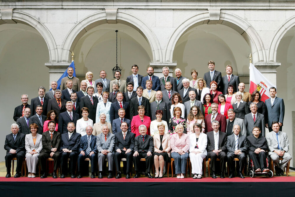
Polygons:
M109 170L113 170L114 164L114 146L115 146L115 135L112 133L108 133L106 136L106 141L104 138L104 133L101 133L96 136L96 147L98 150L98 170L102 171L102 166L104 164L104 160L107 158L109 163ZM103 150L108 150L109 153L104 155L101 153Z

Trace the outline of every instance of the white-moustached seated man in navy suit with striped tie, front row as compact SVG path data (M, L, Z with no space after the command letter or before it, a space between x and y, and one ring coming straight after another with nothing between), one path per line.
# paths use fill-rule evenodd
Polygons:
M86 158L90 159L91 178L95 178L95 168L97 165L97 148L96 148L96 136L92 135L92 132L93 132L93 128L89 125L86 127L86 135L81 137L80 148L79 148L80 154L78 155L77 178L82 178L81 171L83 167L83 161Z

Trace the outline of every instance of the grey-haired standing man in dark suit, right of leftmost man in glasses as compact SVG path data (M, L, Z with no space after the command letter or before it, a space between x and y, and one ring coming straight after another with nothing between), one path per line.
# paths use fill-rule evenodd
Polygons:
M35 109L36 109L36 106L37 105L41 105L43 107L43 112L42 114L44 116L47 115L47 104L48 104L48 99L44 97L45 95L45 88L40 86L38 88L38 94L39 96L36 97L36 98L32 98L31 100L31 106L30 106L30 109L31 109L31 115L35 115L36 112L35 112Z

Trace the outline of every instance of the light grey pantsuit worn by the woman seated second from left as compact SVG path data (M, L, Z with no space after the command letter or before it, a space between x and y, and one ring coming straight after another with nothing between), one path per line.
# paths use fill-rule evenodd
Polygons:
M25 137L25 148L26 148L26 162L29 173L36 173L36 165L38 163L39 154L43 148L42 146L42 135L37 134L36 142L34 144L32 134L26 134ZM35 150L36 154L31 155L30 152Z

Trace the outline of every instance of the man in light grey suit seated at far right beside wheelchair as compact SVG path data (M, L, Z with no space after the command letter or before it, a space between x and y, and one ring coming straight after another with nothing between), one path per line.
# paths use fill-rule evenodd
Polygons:
M266 141L268 145L268 155L271 156L271 159L276 164L276 175L280 176L284 174L285 165L292 159L289 154L289 139L285 132L279 131L280 125L278 122L273 122L272 124L273 131L266 135ZM279 158L283 158L280 163Z

